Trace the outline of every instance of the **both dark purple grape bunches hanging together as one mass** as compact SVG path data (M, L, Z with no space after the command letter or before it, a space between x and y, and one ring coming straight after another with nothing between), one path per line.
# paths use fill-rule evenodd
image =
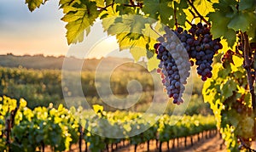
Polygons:
M202 81L212 77L212 59L218 49L223 48L220 39L212 39L208 25L192 25L189 31L178 27L172 31L165 27L166 34L154 45L160 59L159 72L167 94L173 103L183 102L184 85L189 77L190 65L197 65ZM190 62L189 62L190 61Z

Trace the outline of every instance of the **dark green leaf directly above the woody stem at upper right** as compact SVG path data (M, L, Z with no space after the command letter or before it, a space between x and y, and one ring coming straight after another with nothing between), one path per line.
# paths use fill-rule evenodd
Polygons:
M236 14L228 24L228 27L230 29L233 29L235 31L247 31L247 27L250 25L250 22L247 20L247 17L245 14L239 12Z

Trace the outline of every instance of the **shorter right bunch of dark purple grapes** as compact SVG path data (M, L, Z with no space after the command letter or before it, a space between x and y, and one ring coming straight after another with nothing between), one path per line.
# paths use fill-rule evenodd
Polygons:
M188 31L183 31L181 27L175 31L177 37L187 49L190 59L195 59L197 74L202 81L212 77L212 59L218 49L223 48L220 39L212 40L210 28L207 25L198 23L192 25ZM194 64L194 63L193 63Z

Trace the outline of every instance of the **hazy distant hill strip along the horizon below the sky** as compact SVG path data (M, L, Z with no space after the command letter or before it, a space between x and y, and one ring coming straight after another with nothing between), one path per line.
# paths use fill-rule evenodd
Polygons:
M77 59L74 57L54 57L54 56L44 56L39 55L23 55L17 56L12 53L0 55L0 66L3 67L23 67L26 69L50 69L50 70L61 70L63 65L63 60L68 62L67 70L79 70L79 65L83 64L83 70L95 71L97 65L102 62L106 67L112 67L114 65L119 65L120 63L132 62L131 59L114 58L108 57L104 59ZM83 63L84 62L84 63ZM140 64L145 65L144 62ZM145 70L143 67L138 69L135 64L125 64L119 67L119 70Z

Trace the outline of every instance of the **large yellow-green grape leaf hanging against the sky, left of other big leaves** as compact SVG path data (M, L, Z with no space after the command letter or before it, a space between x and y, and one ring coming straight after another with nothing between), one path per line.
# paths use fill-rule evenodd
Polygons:
M99 15L95 2L81 0L80 3L73 3L73 6L63 7L63 12L68 12L61 19L67 22L67 43L82 42L84 40L84 31L88 35L90 25Z

